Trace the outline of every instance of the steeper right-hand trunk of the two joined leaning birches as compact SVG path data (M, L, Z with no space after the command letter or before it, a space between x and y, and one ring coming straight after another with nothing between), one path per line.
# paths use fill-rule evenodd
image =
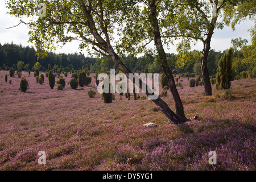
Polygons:
M163 43L161 40L157 13L156 13L156 2L154 0L151 1L151 5L150 5L150 20L151 20L151 26L154 34L155 47L156 47L156 50L158 51L158 55L162 62L163 72L164 74L166 74L172 96L174 97L176 113L180 117L185 118L183 104L181 102L180 95L177 92L174 76L172 75L171 69L168 66L166 52L164 51L164 48L163 48Z

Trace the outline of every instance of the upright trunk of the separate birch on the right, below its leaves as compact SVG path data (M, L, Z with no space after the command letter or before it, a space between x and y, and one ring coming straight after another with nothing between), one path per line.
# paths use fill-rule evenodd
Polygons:
M204 81L204 95L212 96L212 85L210 84L210 75L207 68L207 57L210 50L210 39L212 35L208 35L204 41L204 49L201 53L201 72Z

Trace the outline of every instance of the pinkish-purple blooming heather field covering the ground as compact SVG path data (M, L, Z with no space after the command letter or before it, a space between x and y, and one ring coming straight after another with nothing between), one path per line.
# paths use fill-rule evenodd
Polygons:
M189 88L180 78L185 115L200 121L173 125L152 101L132 94L130 101L115 94L112 104L99 93L89 98L93 75L90 86L72 90L69 74L56 90L47 78L40 85L22 72L29 83L23 93L20 78L5 82L6 74L0 72L1 170L255 170L256 79L232 81L226 95L213 86L213 96L204 97L203 86ZM163 100L174 110L170 91ZM148 122L158 127L144 127ZM38 164L39 151L46 165ZM209 151L216 151L216 165Z

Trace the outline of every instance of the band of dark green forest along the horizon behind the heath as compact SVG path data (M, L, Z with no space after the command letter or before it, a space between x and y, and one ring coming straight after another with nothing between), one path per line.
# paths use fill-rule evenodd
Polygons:
M217 73L218 61L221 56L227 50L215 51L211 49L208 55L208 70L210 75L215 75ZM188 76L200 75L200 52L192 51L194 56L188 57L190 59L187 64L179 65L177 64L179 56L174 53L168 53L167 59L169 67L172 69L173 73L181 74L187 73ZM195 56L196 55L196 56ZM237 48L233 54L233 76L239 75L240 72L253 70L255 67L254 61L251 64L243 61L245 56L243 55L242 49ZM126 56L122 57L123 62L126 67L133 72L143 72L143 73L162 73L162 68L158 64L158 58L156 55L144 55L141 57ZM57 67L70 71L72 69L86 69L91 73L94 72L108 72L110 68L117 67L114 65L113 61L108 57L85 57L81 53L54 53L48 52L48 56L45 58L38 58L36 56L36 50L34 47L24 47L22 45L16 44L0 44L0 67L4 70L9 70L13 67L15 70L18 67L22 67L24 71L28 69L34 71L36 63L40 63L40 70L47 71L48 65L53 68L55 65Z

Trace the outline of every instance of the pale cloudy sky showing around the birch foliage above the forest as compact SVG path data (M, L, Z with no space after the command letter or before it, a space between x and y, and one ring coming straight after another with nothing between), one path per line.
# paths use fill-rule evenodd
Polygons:
M22 44L22 46L33 46L33 44L28 43L28 28L25 24L20 24L17 27L13 27L19 23L19 19L11 17L9 14L6 14L8 9L5 7L5 0L0 0L0 43L3 45L5 43ZM230 27L224 27L222 30L214 31L211 48L215 51L224 51L232 46L232 38L242 37L242 39L248 40L248 45L251 44L250 32L248 31L252 26L253 21L245 21L236 26L236 30L233 31ZM203 43L197 42L196 46L192 46L192 50L202 50ZM79 53L79 42L73 41L71 43L65 44L62 48L57 48L56 53ZM176 47L170 46L170 49L166 52L176 53ZM86 51L82 51L84 55L87 55Z

